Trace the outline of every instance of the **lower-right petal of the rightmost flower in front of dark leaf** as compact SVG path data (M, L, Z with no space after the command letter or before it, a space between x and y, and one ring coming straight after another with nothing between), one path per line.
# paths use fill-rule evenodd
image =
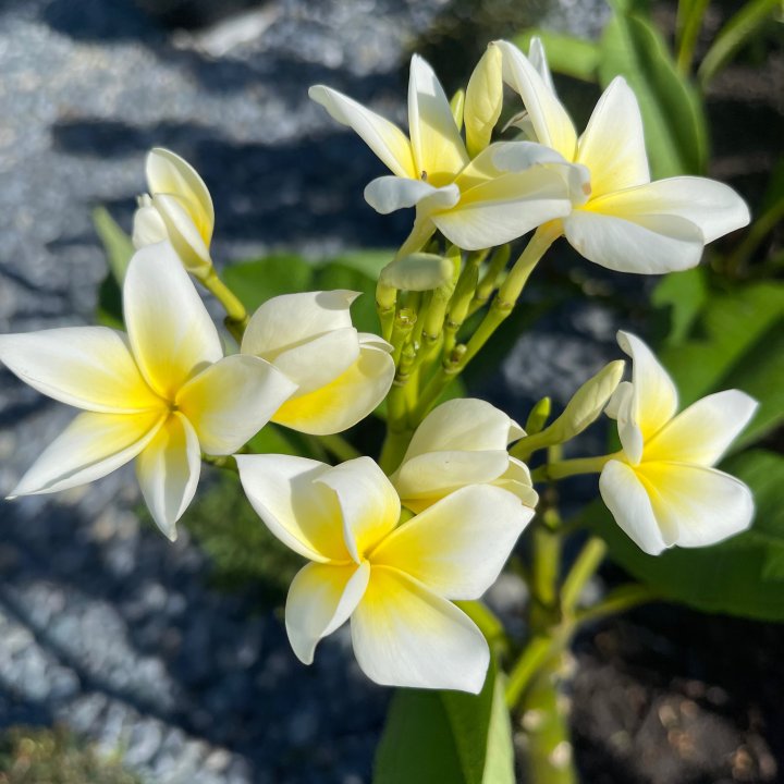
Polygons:
M681 547L707 547L746 530L754 517L751 491L715 468L681 463L637 467L663 530Z

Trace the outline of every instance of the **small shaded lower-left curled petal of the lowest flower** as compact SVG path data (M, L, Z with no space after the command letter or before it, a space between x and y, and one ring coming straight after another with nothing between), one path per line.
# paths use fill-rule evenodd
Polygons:
M285 624L296 658L313 664L319 640L342 626L365 593L370 565L309 563L292 580Z

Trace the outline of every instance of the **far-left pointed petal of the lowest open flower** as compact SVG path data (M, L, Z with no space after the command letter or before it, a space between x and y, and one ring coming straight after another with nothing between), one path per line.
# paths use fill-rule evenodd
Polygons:
M240 481L256 513L306 559L348 563L335 493L316 481L330 466L291 455L236 455Z

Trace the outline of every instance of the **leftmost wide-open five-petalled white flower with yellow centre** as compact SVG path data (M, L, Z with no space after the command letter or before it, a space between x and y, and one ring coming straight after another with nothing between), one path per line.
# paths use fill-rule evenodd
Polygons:
M30 387L85 409L11 498L65 490L136 458L147 506L170 539L196 492L201 451L229 455L296 389L269 363L223 357L168 243L138 250L123 285L127 334L108 327L0 335L0 360Z

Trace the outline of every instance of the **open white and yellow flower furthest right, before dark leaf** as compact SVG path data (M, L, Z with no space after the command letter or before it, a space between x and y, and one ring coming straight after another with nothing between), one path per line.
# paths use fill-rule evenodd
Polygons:
M633 359L608 406L623 451L602 469L599 489L621 528L650 555L713 544L746 530L751 492L712 466L757 409L739 390L708 395L675 415L677 392L650 348L628 332L618 344Z

